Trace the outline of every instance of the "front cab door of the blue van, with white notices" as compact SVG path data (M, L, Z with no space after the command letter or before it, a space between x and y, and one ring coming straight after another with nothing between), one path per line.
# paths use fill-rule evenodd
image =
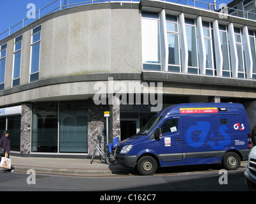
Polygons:
M161 166L182 164L183 137L180 116L166 117L159 125L162 136L154 141Z

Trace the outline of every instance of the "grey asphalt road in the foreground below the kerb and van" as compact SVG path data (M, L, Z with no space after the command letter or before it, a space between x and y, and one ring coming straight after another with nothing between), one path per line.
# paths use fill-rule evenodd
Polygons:
M162 170L154 176L69 177L5 172L0 173L0 191L247 191L244 168L237 171ZM225 181L225 184L220 184Z

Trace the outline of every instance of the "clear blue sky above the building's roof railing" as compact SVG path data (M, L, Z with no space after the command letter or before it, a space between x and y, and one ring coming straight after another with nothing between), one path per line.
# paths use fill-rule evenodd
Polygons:
M77 2L83 2L84 0L61 0L62 5L63 3L69 2L71 3L77 3ZM179 0L169 0L172 2L177 3ZM180 0L180 3L184 3L187 0ZM191 0L189 0L191 2ZM213 0L200 0L207 3L212 3ZM221 3L229 3L231 0L216 0L217 4ZM38 10L42 10L45 6L48 4L51 4L47 8L44 8L44 10L40 11L40 16L44 15L45 13L53 10L54 8L57 8L60 6L60 0L53 3L54 0L0 0L0 34L4 31L8 30L9 27L12 27L15 24L18 24L19 22L22 22L22 19L26 19L27 15L31 13L31 11L35 10L36 12ZM32 6L31 6L32 5ZM28 8L27 8L28 7ZM38 18L38 13L36 13L36 19ZM24 22L24 25L28 25L33 20L36 20L35 18L27 19ZM13 29L11 29L11 34L14 31L19 30L22 28L22 23L15 26ZM0 40L8 36L8 32L0 35Z

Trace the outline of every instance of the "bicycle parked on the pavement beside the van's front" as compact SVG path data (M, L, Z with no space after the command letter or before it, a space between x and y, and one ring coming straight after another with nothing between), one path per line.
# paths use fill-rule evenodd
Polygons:
M100 161L101 161L101 157L106 161L106 163L108 163L109 165L115 165L116 164L116 157L115 157L115 152L113 151L109 151L109 145L112 145L112 144L107 144L106 142L102 142L100 141L99 139L98 140L95 140L95 139L92 139L94 140L96 143L95 145L95 149L93 150L93 154L92 154L92 159L91 159L91 164L93 162L93 157L95 157L95 153L96 151L99 152L100 154ZM100 148L100 145L99 143L104 143L106 144L106 148L105 149L105 152ZM110 147L111 148L111 147Z

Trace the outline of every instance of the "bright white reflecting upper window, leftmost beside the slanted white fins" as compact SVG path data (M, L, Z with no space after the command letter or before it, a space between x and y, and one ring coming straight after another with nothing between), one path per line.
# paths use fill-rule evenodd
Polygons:
M161 70L158 13L142 13L143 69Z

